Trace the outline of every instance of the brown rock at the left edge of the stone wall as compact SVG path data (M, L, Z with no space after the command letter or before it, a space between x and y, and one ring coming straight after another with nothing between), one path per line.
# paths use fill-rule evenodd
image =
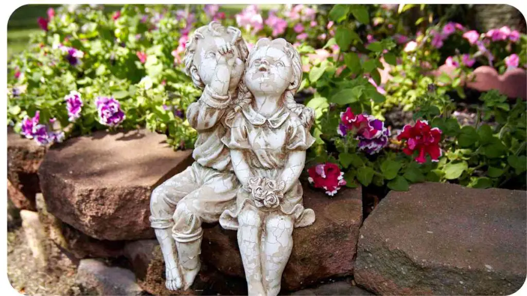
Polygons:
M35 211L37 171L47 148L7 129L7 195L17 209Z

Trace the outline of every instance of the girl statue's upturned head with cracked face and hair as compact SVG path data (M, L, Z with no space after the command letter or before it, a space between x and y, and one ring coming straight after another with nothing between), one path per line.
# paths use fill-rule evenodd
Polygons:
M262 38L249 53L243 80L253 95L292 97L302 81L300 55L282 38Z

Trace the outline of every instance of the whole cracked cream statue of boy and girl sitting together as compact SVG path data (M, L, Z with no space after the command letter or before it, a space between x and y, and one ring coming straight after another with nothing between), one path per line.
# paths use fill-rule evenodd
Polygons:
M201 223L219 221L238 231L249 295L277 295L293 229L315 221L298 181L315 141L314 110L293 98L300 56L281 38L263 38L249 54L239 29L211 22L189 39L184 62L203 89L187 110L198 131L196 162L155 188L150 202L166 286L192 285Z

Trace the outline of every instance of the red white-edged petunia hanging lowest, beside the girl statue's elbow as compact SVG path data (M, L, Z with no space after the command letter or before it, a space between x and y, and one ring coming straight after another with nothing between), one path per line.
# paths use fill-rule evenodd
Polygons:
M341 186L346 185L344 173L334 163L311 166L307 172L309 183L314 184L315 188L323 188L329 196L335 195Z

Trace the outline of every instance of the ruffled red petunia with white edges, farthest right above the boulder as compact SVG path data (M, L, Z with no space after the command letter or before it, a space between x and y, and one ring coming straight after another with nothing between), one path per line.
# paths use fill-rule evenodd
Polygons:
M418 120L414 126L405 125L403 131L397 136L397 140L406 140L406 146L403 149L406 155L413 155L415 151L419 152L415 158L418 163L426 162L426 153L430 155L432 161L436 162L442 155L439 147L441 133L437 127L431 128L428 122Z

